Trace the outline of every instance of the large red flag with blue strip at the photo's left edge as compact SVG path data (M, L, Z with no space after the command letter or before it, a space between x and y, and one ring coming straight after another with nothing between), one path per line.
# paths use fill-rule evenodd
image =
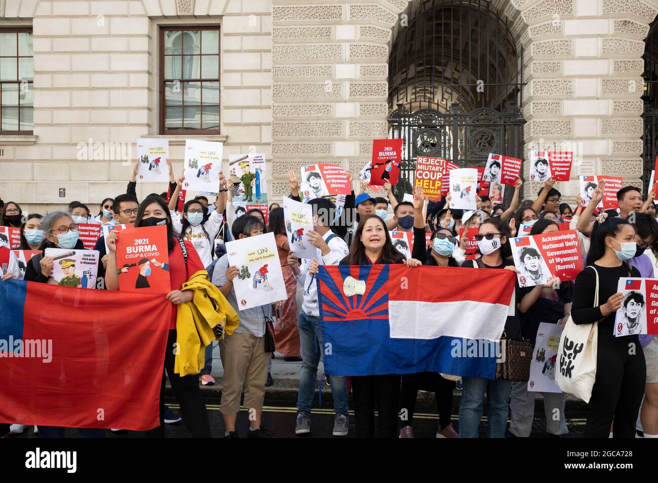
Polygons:
M159 426L171 307L159 294L0 281L0 423Z

